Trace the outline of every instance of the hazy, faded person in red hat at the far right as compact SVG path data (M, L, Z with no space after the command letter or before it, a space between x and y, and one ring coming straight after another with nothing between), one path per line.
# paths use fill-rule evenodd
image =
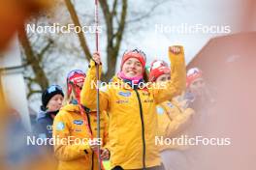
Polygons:
M186 91L176 101L182 108L191 107L197 114L193 116L192 124L188 128L190 137L207 136L208 122L212 119L210 108L215 100L212 98L209 87L203 77L203 71L192 68L187 71ZM212 92L212 91L211 91ZM194 168L196 162L205 152L201 146L191 146L186 150L190 169Z

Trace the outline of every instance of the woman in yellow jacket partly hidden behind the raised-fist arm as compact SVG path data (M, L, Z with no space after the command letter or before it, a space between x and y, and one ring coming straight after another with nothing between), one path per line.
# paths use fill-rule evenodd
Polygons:
M171 80L171 70L162 60L152 62L149 81L161 83ZM162 163L166 170L186 170L187 160L183 150L187 148L177 144L174 138L181 138L189 128L194 110L182 108L176 100L167 100L157 105L158 134L156 144L159 146ZM181 135L182 134L182 135ZM173 139L173 140L172 140Z

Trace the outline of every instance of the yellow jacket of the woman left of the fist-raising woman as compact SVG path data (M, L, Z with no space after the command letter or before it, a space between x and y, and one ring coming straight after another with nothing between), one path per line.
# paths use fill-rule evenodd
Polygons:
M88 114L88 118L93 137L96 138L96 114ZM101 114L101 138L104 147L107 147L108 142L108 122L108 116L104 112ZM79 105L67 104L61 108L54 118L53 136L56 139L54 154L59 161L59 170L98 169L97 156L88 145L90 135L84 125ZM69 138L70 143L68 144L66 139Z

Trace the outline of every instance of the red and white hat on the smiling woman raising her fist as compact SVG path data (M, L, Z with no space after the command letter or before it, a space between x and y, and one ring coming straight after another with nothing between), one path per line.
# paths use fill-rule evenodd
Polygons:
M141 49L139 48L135 48L135 49L132 49L132 50L127 50L124 52L123 56L122 56L122 61L121 61L121 70L122 70L122 67L123 67L123 64L130 58L136 58L138 59L142 65L143 65L143 68L145 66L145 62L146 62L146 56L144 54L144 51L142 51Z

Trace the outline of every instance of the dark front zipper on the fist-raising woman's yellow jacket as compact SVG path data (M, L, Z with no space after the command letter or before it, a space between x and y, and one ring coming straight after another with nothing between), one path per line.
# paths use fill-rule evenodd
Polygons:
M143 134L143 148L144 148L144 154L143 154L143 164L145 169L145 139L144 139L144 114L143 114L143 106L142 106L142 101L140 98L140 94L137 89L134 89L137 95L137 99L139 101L139 106L140 106L140 115L141 115L141 121L142 121L142 134Z

